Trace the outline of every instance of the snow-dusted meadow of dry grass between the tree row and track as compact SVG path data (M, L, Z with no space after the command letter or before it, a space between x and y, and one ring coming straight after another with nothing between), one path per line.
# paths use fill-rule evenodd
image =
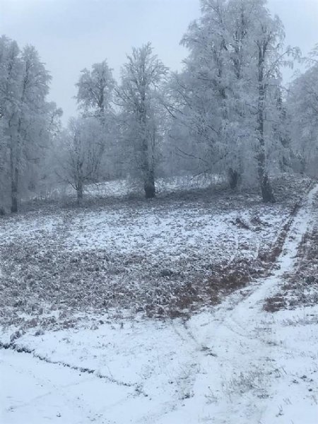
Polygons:
M79 312L177 316L218 302L223 270L248 280L261 267L308 184L298 179L275 206L245 192L167 189L148 202L119 195L4 218L1 320L54 326L58 314L70 325Z

